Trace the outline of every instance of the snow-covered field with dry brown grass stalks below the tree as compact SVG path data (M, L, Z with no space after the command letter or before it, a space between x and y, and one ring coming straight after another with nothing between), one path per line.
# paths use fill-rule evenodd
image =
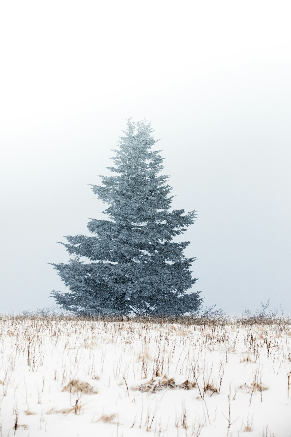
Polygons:
M291 436L288 321L0 322L0 436Z

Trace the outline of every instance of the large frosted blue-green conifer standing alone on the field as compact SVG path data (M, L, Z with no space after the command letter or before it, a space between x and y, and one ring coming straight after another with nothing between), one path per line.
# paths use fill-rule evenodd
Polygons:
M181 315L199 309L199 292L189 270L195 258L183 250L190 243L174 242L195 221L195 210L171 209L174 196L158 175L161 150L146 121L127 121L127 131L113 150L113 176L101 176L102 185L92 191L104 204L109 219L91 219L92 236L66 236L61 243L73 255L68 264L52 264L70 292L53 290L65 310L76 314ZM86 260L83 259L86 258Z

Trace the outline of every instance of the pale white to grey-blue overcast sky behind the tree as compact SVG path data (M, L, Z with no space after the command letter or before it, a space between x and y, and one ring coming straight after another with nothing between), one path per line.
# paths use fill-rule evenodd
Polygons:
M205 305L291 308L289 1L0 7L0 312L54 304L125 118L151 120Z

